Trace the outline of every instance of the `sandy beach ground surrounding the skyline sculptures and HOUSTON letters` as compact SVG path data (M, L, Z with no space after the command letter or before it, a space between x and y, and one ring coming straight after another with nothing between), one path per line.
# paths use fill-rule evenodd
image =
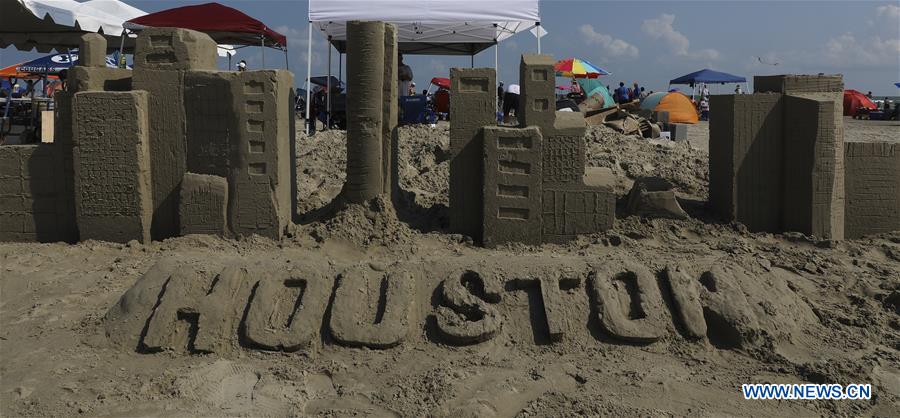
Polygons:
M896 122L845 119L845 129L848 141L900 140ZM298 209L305 216L282 241L194 235L148 245L0 244L0 415L894 414L900 234L829 242L716 221L703 205L707 124L691 126L690 135L675 143L589 128L588 166L622 177L620 200L629 181L662 175L675 184L691 218L619 217L612 230L567 245L488 250L446 233L446 124L401 128L406 204L397 213L353 206L317 219L316 209L331 201L344 177L346 135L330 131L297 139ZM212 354L138 352L116 342L137 335L116 334L119 323L109 312L164 260L206 272L239 261L251 271L294 266L325 275L360 263L384 269L400 262L418 266L421 276L410 333L393 348L348 348L323 332L311 348L293 353L237 343ZM746 312L758 320L701 340L686 337L671 320L656 342L613 339L590 308L586 274L627 263L728 275L731 281L720 286L737 286ZM435 339L431 293L459 268L489 271L501 281L545 268L571 271L575 280L561 291L567 320L553 325L560 340L547 340L543 324L549 322L535 293L516 287L496 304L502 328L494 338L469 346ZM766 382L876 389L870 401L743 400L742 383Z

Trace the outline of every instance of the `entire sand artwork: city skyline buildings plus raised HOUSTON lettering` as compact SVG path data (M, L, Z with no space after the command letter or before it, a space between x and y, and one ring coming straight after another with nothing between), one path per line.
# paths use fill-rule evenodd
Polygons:
M396 28L347 29L347 180L335 203L396 202ZM183 29L142 32L133 71L105 67L99 35L83 44L82 64L56 97L56 142L0 147L0 241L282 238L297 207L290 72L217 71L212 39ZM585 123L580 113L556 111L553 63L522 56L514 127L495 122L493 69L451 70L451 232L495 247L561 243L613 227L614 179L585 168ZM711 207L754 231L839 240L900 230L900 152L896 144L843 143L840 76L756 85L754 94L713 99ZM107 312L107 335L140 352L307 351L322 341L387 349L415 340L424 326L440 342L473 345L520 325L505 319L508 292L518 291L540 298L532 309L543 312L531 325L535 341L547 343L578 332L587 318L629 343L677 332L726 346L760 344L757 337L777 331L770 324L783 322L756 310L740 288L777 278L730 266L495 260L510 272L501 278L468 258L378 270L295 261L299 271L239 259L198 271L196 260L165 258ZM278 298L296 300L270 303ZM196 332L179 331L185 323Z

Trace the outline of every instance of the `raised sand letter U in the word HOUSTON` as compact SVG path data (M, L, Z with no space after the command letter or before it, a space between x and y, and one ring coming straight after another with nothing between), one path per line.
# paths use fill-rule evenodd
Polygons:
M415 280L415 275L405 269L384 274L367 265L348 268L338 277L334 291L329 322L331 335L349 346L399 345L409 334Z

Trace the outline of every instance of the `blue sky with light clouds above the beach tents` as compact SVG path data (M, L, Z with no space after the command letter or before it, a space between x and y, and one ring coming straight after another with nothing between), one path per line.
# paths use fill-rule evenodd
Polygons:
M153 12L204 1L125 2ZM298 80L305 78L306 1L220 2L287 35L291 69ZM557 59L587 59L613 73L609 84L638 81L660 90L672 78L708 67L748 79L760 74L841 73L847 88L898 94L893 83L900 81L900 1L542 0L541 18L549 32L542 40L542 52ZM245 49L240 57L259 68L259 50ZM527 32L501 43L499 79L509 82L518 77L519 54L535 50L535 38ZM313 75L324 74L326 43L315 32L312 55ZM0 51L0 65L38 56L7 48ZM270 67L276 62L279 68L284 65L283 57L275 61L271 50L266 61ZM406 62L420 88L431 77L447 76L450 67L470 65L469 57L450 56L415 56ZM475 65L492 67L493 50L477 55ZM333 72L337 73L337 54ZM716 87L712 90L715 93Z

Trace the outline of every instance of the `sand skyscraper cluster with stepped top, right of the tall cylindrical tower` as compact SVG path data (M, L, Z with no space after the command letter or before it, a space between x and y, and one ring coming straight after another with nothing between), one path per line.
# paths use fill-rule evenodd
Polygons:
M450 70L450 227L491 247L604 231L615 195L584 181L584 118L558 112L554 60L522 56L520 127L495 126L492 69Z

